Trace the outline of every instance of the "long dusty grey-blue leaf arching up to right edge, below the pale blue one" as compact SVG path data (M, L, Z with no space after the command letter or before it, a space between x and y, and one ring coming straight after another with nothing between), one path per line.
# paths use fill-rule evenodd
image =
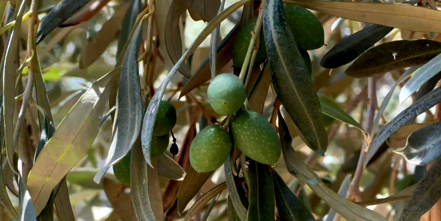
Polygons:
M415 120L415 118L426 112L426 110L432 108L436 104L441 102L441 88L430 91L426 95L422 96L414 104L410 105L402 112L400 112L394 119L392 119L389 124L387 124L380 132L372 139L369 149L367 150L366 157L364 159L364 166L374 156L377 150L380 148L386 139L389 138L395 131L400 129L406 124L409 124Z

